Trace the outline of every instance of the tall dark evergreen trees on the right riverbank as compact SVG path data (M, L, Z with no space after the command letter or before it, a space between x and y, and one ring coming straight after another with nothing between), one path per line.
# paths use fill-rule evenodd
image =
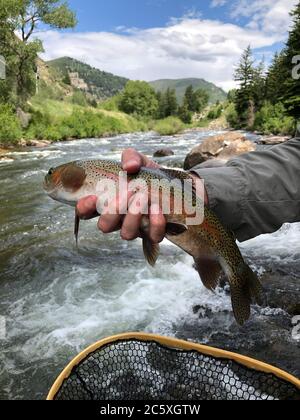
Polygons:
M293 134L300 119L300 2L291 12L293 25L285 47L271 65L256 64L249 46L243 53L234 79L239 88L229 92L234 108L229 122L237 128L258 129L274 134Z

